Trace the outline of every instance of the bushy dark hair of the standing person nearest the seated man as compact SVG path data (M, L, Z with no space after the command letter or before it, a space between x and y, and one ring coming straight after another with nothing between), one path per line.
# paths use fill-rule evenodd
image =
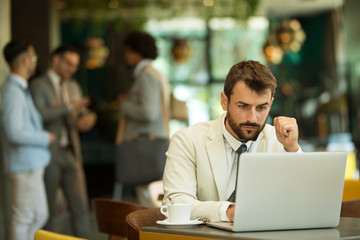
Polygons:
M155 59L158 56L155 38L144 32L130 32L125 38L125 46L139 53L143 58Z

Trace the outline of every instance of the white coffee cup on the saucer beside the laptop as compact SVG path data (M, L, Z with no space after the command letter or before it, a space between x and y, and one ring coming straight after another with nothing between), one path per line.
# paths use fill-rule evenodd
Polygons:
M171 223L187 223L190 221L191 204L169 204L160 208Z

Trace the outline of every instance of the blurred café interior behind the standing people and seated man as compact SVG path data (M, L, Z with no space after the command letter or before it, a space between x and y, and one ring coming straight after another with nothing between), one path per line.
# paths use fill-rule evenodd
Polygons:
M49 53L59 44L80 47L74 79L97 114L95 127L81 133L89 201L114 196L119 115L113 101L132 84L123 40L134 29L156 39L153 66L171 87L170 137L221 115L220 93L230 67L256 60L278 84L268 122L281 115L296 118L302 150L347 152L345 179L357 181L359 9L357 0L0 0L0 47L30 38L38 54L36 74L46 71ZM8 73L1 56L0 84ZM0 170L0 240L5 240L10 196ZM360 198L360 187L356 191ZM136 203L134 194L132 186L124 186L121 199ZM61 194L59 208L64 215L59 222L66 225ZM94 216L92 221L93 239L107 239Z

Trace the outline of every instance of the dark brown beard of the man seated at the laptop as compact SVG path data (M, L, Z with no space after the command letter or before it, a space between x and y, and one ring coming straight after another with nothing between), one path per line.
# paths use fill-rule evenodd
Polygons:
M268 114L269 116L269 114ZM266 116L266 119L268 118L268 116ZM259 134L261 133L261 131L264 129L265 125L266 125L266 119L264 124L260 125L258 123L252 123L252 122L245 122L245 123L236 123L235 119L232 118L230 112L227 112L227 121L229 123L229 126L231 127L231 129L233 130L233 132L236 134L236 136L241 140L241 141L256 141L256 139L258 138ZM251 127L256 127L256 130L245 130L242 129L243 127L246 126L251 126Z

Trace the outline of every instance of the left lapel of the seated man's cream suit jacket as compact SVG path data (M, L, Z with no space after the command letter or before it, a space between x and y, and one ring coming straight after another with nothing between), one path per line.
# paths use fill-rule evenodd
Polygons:
M219 194L219 200L226 200L226 153L224 139L221 129L222 116L215 122L214 126L210 126L209 142L206 144L209 162L215 179L216 188Z

